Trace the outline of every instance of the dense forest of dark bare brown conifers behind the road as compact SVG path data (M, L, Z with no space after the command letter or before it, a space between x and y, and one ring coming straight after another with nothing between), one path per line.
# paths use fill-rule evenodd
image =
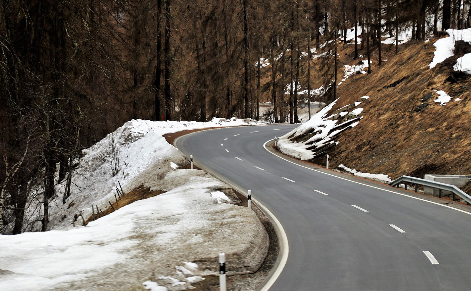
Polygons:
M0 5L0 234L40 186L47 229L55 183L81 150L124 121L298 122L298 84L337 96L337 46L381 65L381 36L413 39L471 26L470 0L2 0ZM439 25L441 24L441 25ZM440 31L438 29L440 28ZM337 40L343 38L341 43ZM324 52L320 65L302 52ZM313 72L311 72L311 70ZM370 72L370 70L368 70ZM341 73L341 72L339 72ZM315 76L315 77L314 77ZM312 80L312 79L316 80ZM288 85L287 85L288 84ZM292 84L292 85L290 85ZM289 90L289 94L287 89Z

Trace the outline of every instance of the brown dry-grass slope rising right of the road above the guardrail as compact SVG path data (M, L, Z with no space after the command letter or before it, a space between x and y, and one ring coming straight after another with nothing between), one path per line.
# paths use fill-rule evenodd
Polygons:
M342 163L393 179L471 174L471 79L455 75L453 82L446 81L463 53L429 69L436 40L407 43L398 55L393 45L383 45L383 59L388 61L378 67L375 54L371 74L355 75L339 87L340 99L332 112L364 95L370 99L362 104L364 119L343 132L337 138L339 145L329 150L331 165ZM340 52L344 63L355 63L351 51L346 46ZM440 106L434 102L438 96L434 90L444 90L452 100ZM456 97L462 100L454 102Z

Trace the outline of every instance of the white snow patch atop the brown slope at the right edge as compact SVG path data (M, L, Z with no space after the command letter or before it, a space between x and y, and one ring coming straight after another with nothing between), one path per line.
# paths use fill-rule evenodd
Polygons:
M429 68L434 68L437 64L443 62L449 57L455 55L455 43L458 40L463 40L471 43L471 28L467 29L447 29L449 37L439 39L433 44L435 46L435 52L432 62L429 64ZM468 56L467 56L468 55ZM453 67L455 71L471 73L471 57L469 54L460 57Z

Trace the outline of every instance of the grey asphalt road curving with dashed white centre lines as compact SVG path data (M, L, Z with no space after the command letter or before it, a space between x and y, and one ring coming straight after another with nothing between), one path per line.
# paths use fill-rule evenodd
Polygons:
M289 255L270 291L471 290L469 213L264 149L294 127L205 130L176 142L204 169L251 189L283 226Z

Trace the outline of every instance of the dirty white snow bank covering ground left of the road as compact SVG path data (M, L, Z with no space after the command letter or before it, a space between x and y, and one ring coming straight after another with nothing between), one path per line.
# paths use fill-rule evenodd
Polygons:
M71 197L65 205L62 197L52 203L57 205L50 213L54 230L0 235L0 289L183 290L202 275L216 273L219 252L226 253L229 272L255 271L268 250L259 219L252 210L231 204L237 198L219 180L201 170L175 169L187 161L162 137L182 129L244 124L219 119L126 122L85 151L73 175ZM115 159L106 158L113 140L120 156L114 177L110 167ZM87 226L73 226L73 214L87 218L92 204L104 210L114 201L118 180L124 192L141 185L167 192ZM64 185L56 189L60 194ZM75 205L67 209L72 200Z

